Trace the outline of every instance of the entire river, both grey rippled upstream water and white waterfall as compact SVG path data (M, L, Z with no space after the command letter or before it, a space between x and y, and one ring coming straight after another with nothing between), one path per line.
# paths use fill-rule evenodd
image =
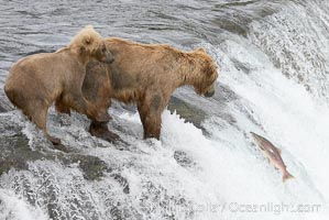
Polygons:
M118 102L109 128L128 145L92 138L86 117L52 108L50 133L69 153L53 150L1 89L0 220L328 218L326 1L0 0L0 14L1 88L12 63L64 46L86 24L103 36L202 46L219 67L212 98L177 89L194 123L174 102L161 141L142 140L138 112ZM282 183L250 132L282 148L294 179Z

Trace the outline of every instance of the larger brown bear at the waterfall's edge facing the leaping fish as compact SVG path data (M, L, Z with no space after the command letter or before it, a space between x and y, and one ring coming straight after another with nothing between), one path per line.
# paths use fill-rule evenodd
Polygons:
M210 97L215 94L217 66L204 48L183 52L168 45L140 44L122 38L107 38L106 45L116 62L111 65L90 62L87 65L84 96L101 112L110 107L111 98L136 103L144 139L160 139L161 114L176 88L190 85L198 95ZM64 103L57 105L65 109ZM96 120L89 132L107 141L118 138L108 131L106 122Z

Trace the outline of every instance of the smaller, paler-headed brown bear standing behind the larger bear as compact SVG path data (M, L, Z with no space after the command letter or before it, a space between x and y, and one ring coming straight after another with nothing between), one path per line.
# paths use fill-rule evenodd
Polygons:
M46 118L48 107L55 100L61 100L92 121L108 122L110 119L86 100L81 92L86 66L91 59L109 64L113 62L113 56L99 33L87 25L66 47L55 53L22 58L9 70L6 95L53 144L61 141L47 133Z

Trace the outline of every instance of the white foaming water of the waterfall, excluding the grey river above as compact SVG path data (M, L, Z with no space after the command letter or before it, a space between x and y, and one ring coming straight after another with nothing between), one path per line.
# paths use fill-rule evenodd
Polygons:
M209 114L206 132L166 110L161 141L143 141L138 113L111 109L110 128L130 143L120 148L90 136L86 118L58 122L51 110L51 133L111 172L91 182L80 162L59 160L10 169L0 177L0 220L328 219L328 12L326 1L289 2L251 22L248 37L223 32L220 43L204 40L199 46L216 59L228 94L206 99L184 88L175 96ZM53 151L18 111L1 116L22 127L33 151ZM250 132L282 148L295 178L282 182Z

